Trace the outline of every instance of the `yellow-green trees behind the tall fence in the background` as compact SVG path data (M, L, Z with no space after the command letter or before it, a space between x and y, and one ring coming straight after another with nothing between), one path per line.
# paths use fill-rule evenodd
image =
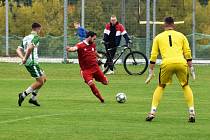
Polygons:
M210 34L210 4L209 0L196 2L196 32ZM0 35L5 34L5 1L0 0ZM151 0L151 17L152 17ZM32 22L40 22L43 26L41 35L63 35L63 0L9 0L9 32L12 35L24 36L30 32ZM74 34L72 23L80 21L81 1L68 1L69 35ZM115 14L118 20L124 22L129 34L138 37L145 36L145 25L139 21L146 19L146 0L125 0L122 9L121 0L86 0L85 28L103 35L103 29L109 22L110 15ZM157 1L157 20L173 16L177 21L185 21L177 25L177 30L185 34L192 33L192 0L159 0ZM123 18L125 17L125 18ZM157 32L162 31L157 25Z

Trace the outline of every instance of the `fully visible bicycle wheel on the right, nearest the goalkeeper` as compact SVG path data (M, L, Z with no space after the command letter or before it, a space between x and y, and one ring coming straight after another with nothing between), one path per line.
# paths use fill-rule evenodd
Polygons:
M124 68L125 71L130 74L142 75L148 67L147 57L138 51L133 51L126 55L124 59Z

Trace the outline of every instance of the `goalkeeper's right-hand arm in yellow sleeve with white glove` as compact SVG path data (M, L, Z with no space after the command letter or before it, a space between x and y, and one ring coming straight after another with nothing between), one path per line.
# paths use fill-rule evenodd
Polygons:
M191 49L189 46L189 42L185 36L184 36L184 41L183 41L183 54L184 54L185 59L187 60L188 66L190 68L191 76L192 76L193 80L195 80L195 70L192 65Z

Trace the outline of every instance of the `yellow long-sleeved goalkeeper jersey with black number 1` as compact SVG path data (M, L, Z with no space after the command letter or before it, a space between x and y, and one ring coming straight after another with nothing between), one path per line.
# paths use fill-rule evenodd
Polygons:
M162 57L162 65L186 63L186 60L192 59L187 38L175 30L166 30L155 37L150 62L156 62L159 53Z

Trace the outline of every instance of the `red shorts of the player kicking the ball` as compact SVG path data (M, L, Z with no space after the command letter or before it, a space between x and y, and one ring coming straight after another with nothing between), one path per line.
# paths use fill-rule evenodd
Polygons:
M107 83L108 79L104 75L104 73L101 71L99 67L96 67L93 70L81 70L81 76L84 78L85 83L89 84L93 81L93 78L101 83Z

